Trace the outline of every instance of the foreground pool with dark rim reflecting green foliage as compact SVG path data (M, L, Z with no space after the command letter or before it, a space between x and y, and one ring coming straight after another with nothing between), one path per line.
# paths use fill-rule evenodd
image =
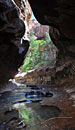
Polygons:
M19 104L16 104L19 105ZM16 106L15 106L16 107ZM49 118L58 117L61 110L55 106L36 104L27 104L19 109L20 118L22 118L26 125L26 129L37 130L41 122Z

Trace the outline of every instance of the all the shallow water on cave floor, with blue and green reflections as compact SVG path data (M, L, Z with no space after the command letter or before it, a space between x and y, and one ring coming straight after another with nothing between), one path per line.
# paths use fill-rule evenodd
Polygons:
M41 122L58 117L61 110L50 106L53 93L28 85L0 93L0 130L44 130Z

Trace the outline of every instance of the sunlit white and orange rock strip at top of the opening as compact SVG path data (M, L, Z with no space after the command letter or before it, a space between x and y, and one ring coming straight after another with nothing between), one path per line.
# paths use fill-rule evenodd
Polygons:
M26 31L25 31L24 38L26 40L29 40L27 33L29 31L29 22L30 22L30 19L32 16L31 6L30 6L28 0L14 0L14 2L16 3L16 5L20 11L21 19L25 23Z

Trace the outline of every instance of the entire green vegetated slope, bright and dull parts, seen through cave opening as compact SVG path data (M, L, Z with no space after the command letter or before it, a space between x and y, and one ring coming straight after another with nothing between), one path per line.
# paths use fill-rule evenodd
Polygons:
M45 40L34 40L34 33L31 32L30 34L30 48L31 51L29 52L23 66L21 69L21 72L29 71L32 69L36 69L43 63L50 63L51 65L54 64L56 58L50 58L50 48L53 46L51 39L49 37L49 34L46 33L46 39ZM44 45L44 46L43 46ZM40 48L43 47L43 50L40 50ZM48 56L48 60L47 57Z

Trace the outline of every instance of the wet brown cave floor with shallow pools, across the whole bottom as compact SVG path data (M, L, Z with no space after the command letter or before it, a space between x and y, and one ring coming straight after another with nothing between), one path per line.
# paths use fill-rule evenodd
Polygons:
M11 128L11 130L19 128L21 130L75 129L75 89L73 83L70 88L69 84L62 87L41 86L41 91L53 93L53 96L40 98L37 96L37 98L29 99L25 97L25 92L33 92L36 87L35 90L32 90L32 85L28 86L19 86L14 91L7 91L0 95L0 128L3 128L2 130L5 128ZM36 86L39 88L38 85ZM30 113L29 123L27 123L26 117L24 118L24 114L20 113L25 111ZM3 125L3 123L5 124Z

